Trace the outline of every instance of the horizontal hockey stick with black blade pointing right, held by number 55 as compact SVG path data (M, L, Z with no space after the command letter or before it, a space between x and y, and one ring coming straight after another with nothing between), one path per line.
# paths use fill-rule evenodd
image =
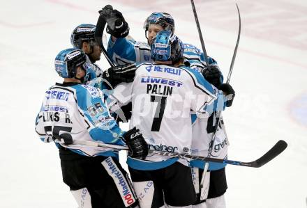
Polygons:
M110 145L105 143L98 143L95 141L74 141L75 145L83 145L84 147L103 147L103 148L111 148L114 150L128 150L128 147L121 146L121 145ZM278 156L285 148L287 147L287 143L283 140L278 141L271 149L266 152L262 157L259 159L256 159L255 161L251 162L242 162L242 161L233 161L233 160L227 160L227 159L216 159L211 157L202 157L202 156L196 156L196 155L190 155L190 154L182 154L177 152L163 152L158 150L148 150L149 154L156 154L161 156L168 156L168 157L177 157L180 159L197 159L201 161L206 162L214 162L214 163L225 163L229 165L234 166L246 166L251 168L260 168L261 166L264 166L266 163L274 159Z

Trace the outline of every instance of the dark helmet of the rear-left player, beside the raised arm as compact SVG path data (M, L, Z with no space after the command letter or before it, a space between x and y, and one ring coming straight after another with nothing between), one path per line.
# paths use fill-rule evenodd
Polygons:
M93 24L80 24L77 26L70 35L70 42L73 47L81 49L82 42L95 42L95 30L96 26Z

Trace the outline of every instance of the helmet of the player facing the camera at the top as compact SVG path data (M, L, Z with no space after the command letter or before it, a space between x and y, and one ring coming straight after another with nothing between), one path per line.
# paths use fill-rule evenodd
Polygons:
M170 30L174 33L175 22L169 13L152 13L144 22L144 30L147 33L149 24L159 24L164 30Z

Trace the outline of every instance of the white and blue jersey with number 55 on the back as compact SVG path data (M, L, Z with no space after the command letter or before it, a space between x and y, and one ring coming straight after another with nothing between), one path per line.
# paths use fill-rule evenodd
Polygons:
M94 140L125 145L121 140L123 131L110 115L103 93L79 83L56 83L46 91L35 129L41 141L63 141L73 152L90 157L117 157L118 152L73 143Z

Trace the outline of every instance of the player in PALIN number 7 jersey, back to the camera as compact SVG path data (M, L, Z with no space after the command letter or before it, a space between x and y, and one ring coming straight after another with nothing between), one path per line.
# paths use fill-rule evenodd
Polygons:
M190 110L205 113L206 104L218 106L216 97L224 101L223 93L200 72L184 67L183 53L181 41L171 31L160 31L151 45L155 62L138 65L134 81L119 84L110 95L113 102L132 102L130 126L142 131L151 150L189 154ZM191 170L185 159L149 154L145 160L128 157L127 163L141 207L195 203Z

